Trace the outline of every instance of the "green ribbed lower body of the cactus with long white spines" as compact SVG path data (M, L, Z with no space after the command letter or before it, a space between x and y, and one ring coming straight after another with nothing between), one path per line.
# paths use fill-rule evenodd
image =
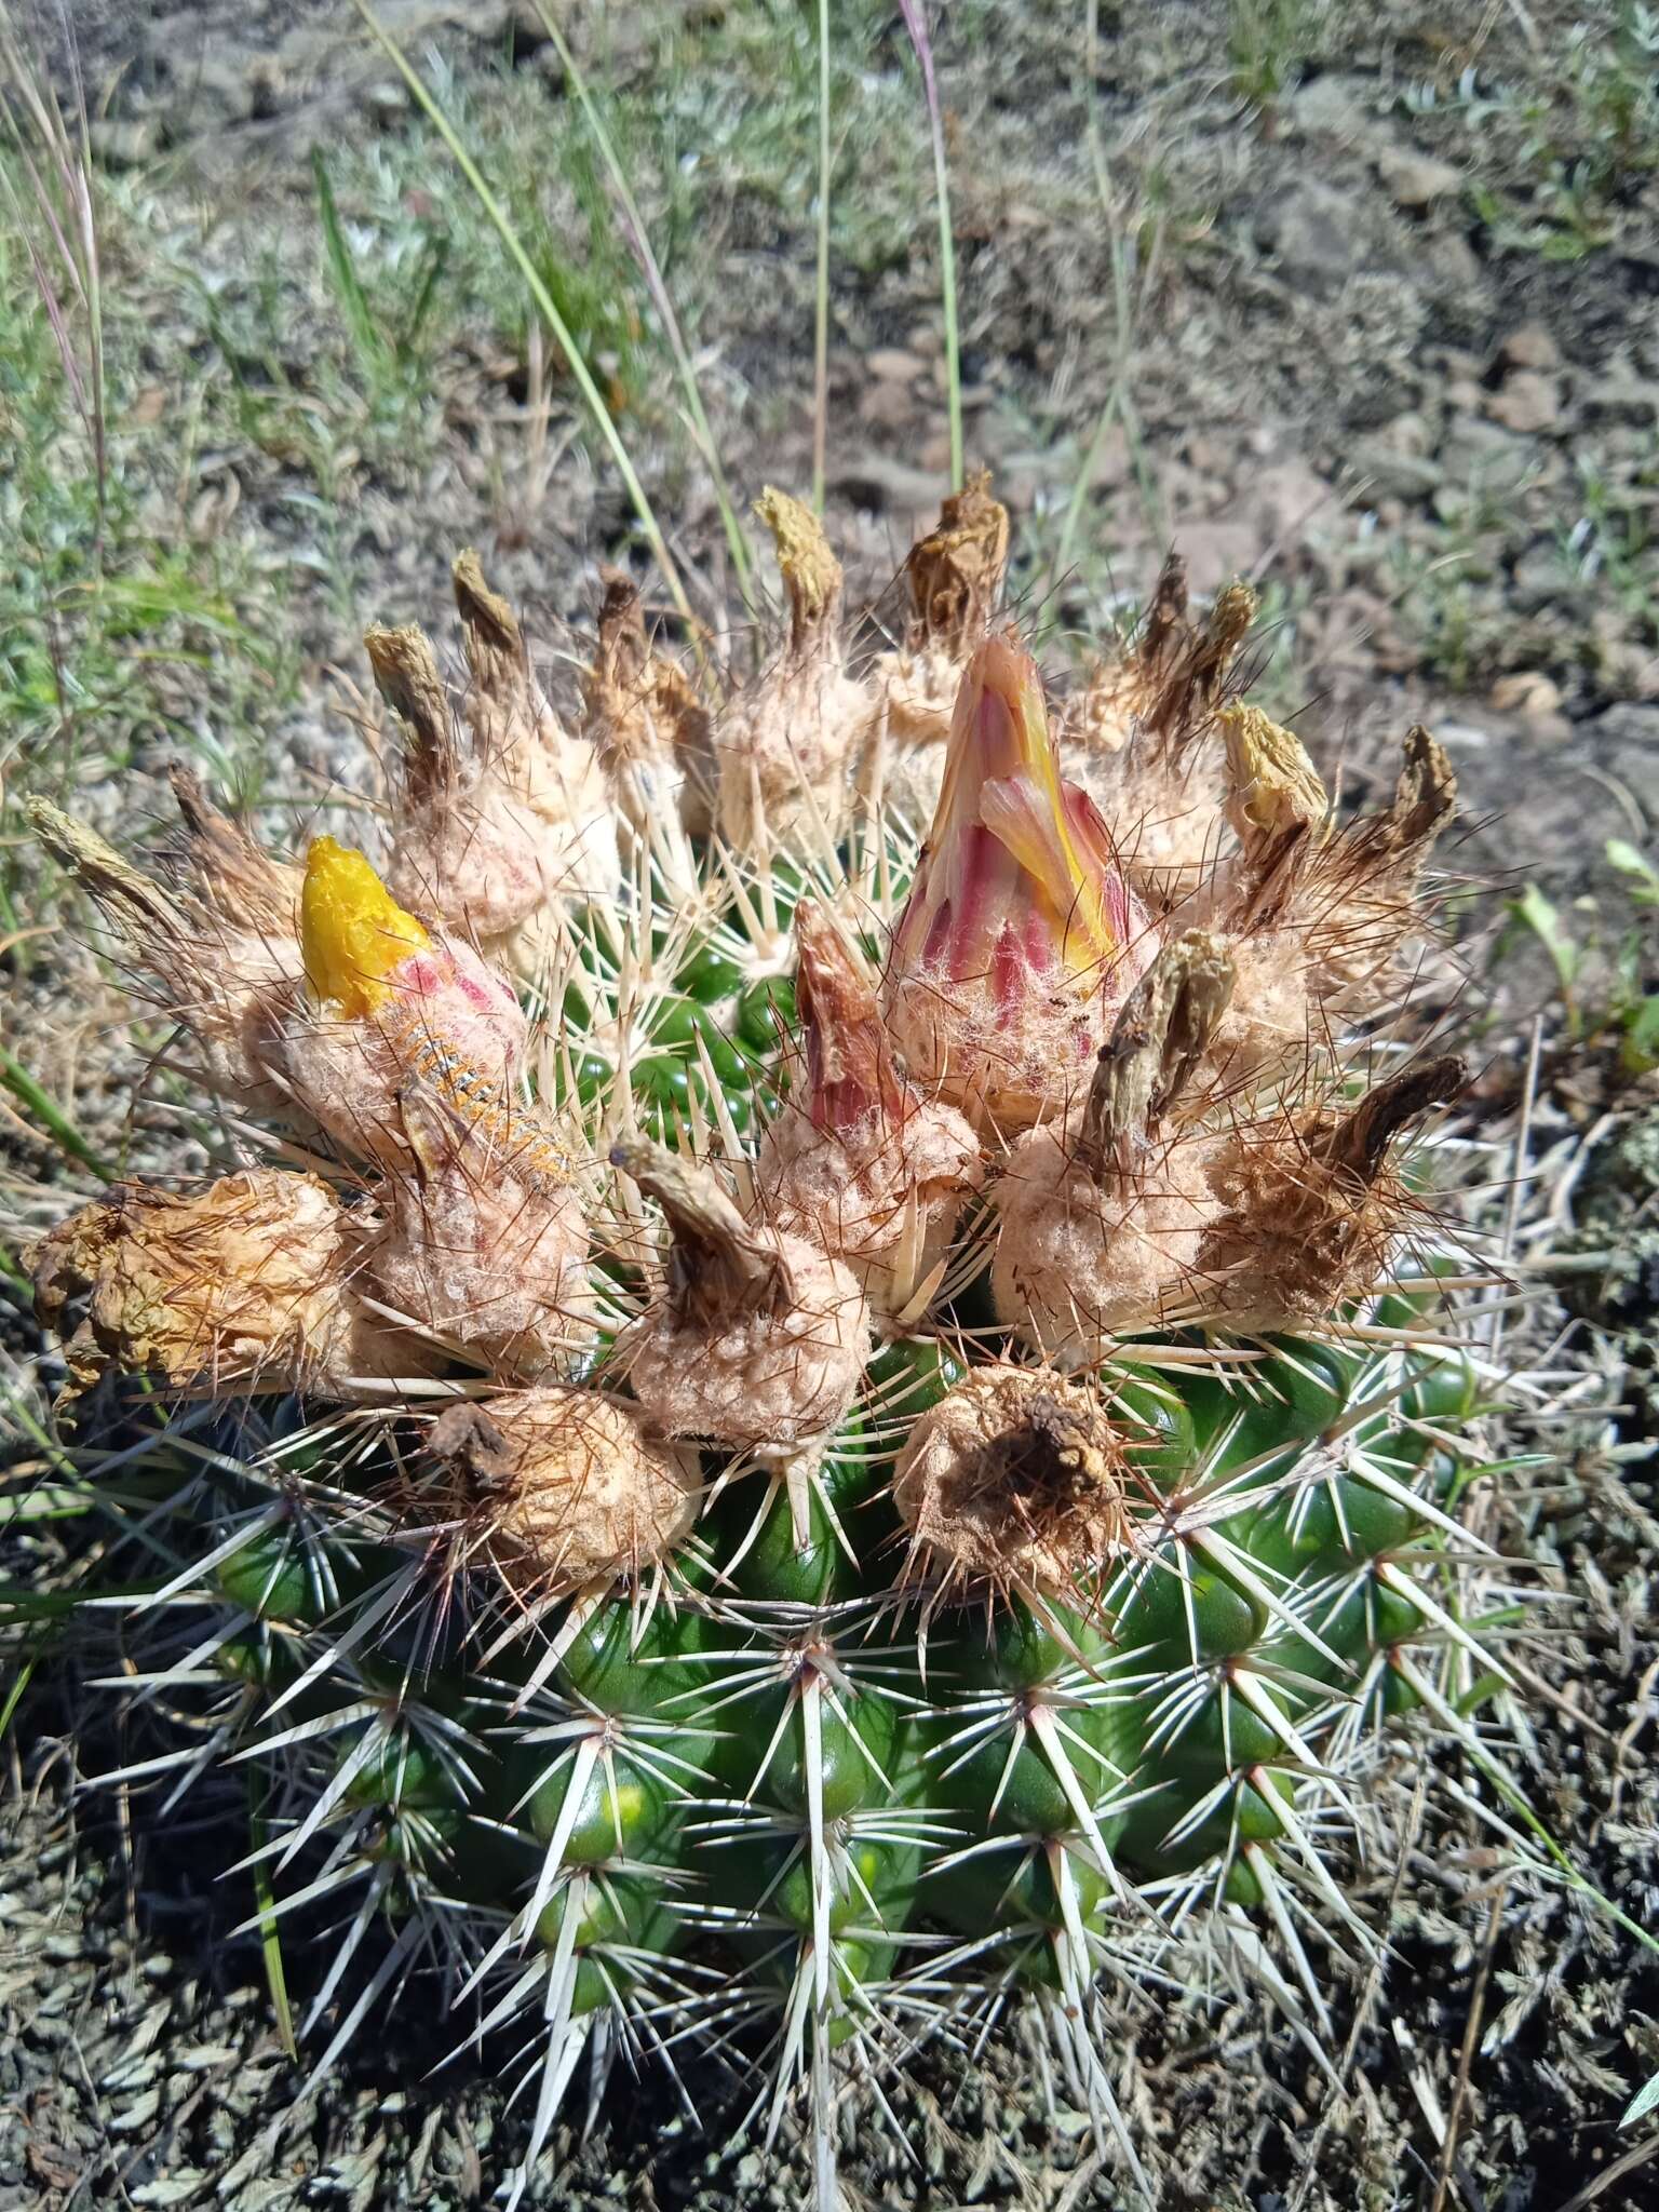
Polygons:
M909 1411L938 1363L896 1347L872 1407ZM1108 1402L1144 1546L1073 1604L894 1593L889 1411L825 1462L805 1548L787 1495L757 1515L734 1486L655 1604L551 1615L551 1641L469 1610L367 1471L330 1509L292 1438L243 1438L226 1498L254 1478L265 1502L204 1515L234 1610L157 1681L230 1677L217 1754L283 1776L270 1856L323 1860L292 1905L349 1898L352 1951L392 1909L473 2033L535 2028L538 2139L582 2048L679 2064L770 2020L776 2126L799 2079L832 2110L843 2046L880 2073L958 2011L1026 1993L1075 2037L1097 1978L1194 1911L1250 1907L1252 1973L1321 2031L1318 1949L1369 1942L1332 1871L1363 1820L1343 1774L1478 1650L1447 1511L1471 1371L1287 1345L1245 1396L1126 1365ZM1086 2079L1108 2112L1097 2059Z

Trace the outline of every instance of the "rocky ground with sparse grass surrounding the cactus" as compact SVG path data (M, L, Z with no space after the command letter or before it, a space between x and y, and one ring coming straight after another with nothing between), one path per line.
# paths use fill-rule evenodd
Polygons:
M591 354L699 613L730 608L708 471L555 44L520 4L378 13L456 111ZM1659 24L1553 0L1170 0L1099 7L1091 40L1088 13L940 13L969 453L1015 509L1015 584L1057 668L1177 542L1199 588L1261 582L1270 695L1349 787L1413 719L1455 757L1460 858L1484 887L1462 925L1484 1113L1493 1137L1515 1135L1540 1018L1528 1252L1584 1261L1562 1279L1573 1303L1546 1298L1513 1338L1568 1376L1533 1394L1542 1407L1517 1400L1517 1442L1559 1460L1517 1537L1573 1593L1540 1661L1566 1703L1537 1708L1531 1781L1575 1863L1652 1927L1659 1544L1628 1453L1655 1433L1659 1175L1639 1024L1659 975L1655 887L1608 845L1652 852L1659 827ZM560 15L628 161L732 487L803 487L814 11ZM880 611L949 460L931 170L900 13L858 0L832 15L830 522ZM80 69L91 111L106 460L100 500L20 188L0 201L0 522L20 553L11 575L0 564L7 794L73 790L133 834L164 812L166 763L190 757L290 832L321 807L363 823L363 624L440 624L449 560L478 544L562 677L597 564L639 557L615 469L500 239L345 0L84 0L35 24L13 0L11 20L60 86ZM91 389L86 319L66 323ZM11 816L0 993L13 1066L82 1146L188 1161L177 1113L133 1106L146 1040L113 1026L77 918ZM27 1225L77 1168L38 1102L15 1084L7 1097L0 1203ZM38 1345L15 1298L9 1329L27 1407ZM49 1524L31 1546L31 1573L46 1571ZM204 1878L234 1856L246 1809L192 1801L159 1818L139 1792L77 1796L77 1772L126 1756L102 1703L58 1655L9 1714L0 2205L489 2201L520 2119L487 2068L429 2090L440 2048L414 2031L270 2132L299 2077L259 1947L230 1933L250 1893ZM1248 2117L1239 2081L1259 2059L1228 2020L1146 2044L1172 2201L1650 2201L1655 2166L1619 2161L1652 2139L1615 2124L1659 2068L1652 1971L1562 1887L1513 1880L1493 1913L1491 1838L1433 1807L1422 1823L1413 1869L1433 1902L1400 1929L1387 1986L1356 1993L1345 2104L1318 2117L1325 2093L1285 2044L1274 2099ZM303 2002L305 1944L290 1949ZM1462 2064L1473 2006L1486 2033ZM1042 2110L1020 2053L958 2075L938 2055L902 2115L925 2181L860 2135L869 2203L1119 2203L1079 2115L1064 2095ZM646 2179L637 2115L619 2110L588 2146L564 2139L540 2201L799 2201L796 2174L699 2150L666 2104L648 2115L672 2148Z

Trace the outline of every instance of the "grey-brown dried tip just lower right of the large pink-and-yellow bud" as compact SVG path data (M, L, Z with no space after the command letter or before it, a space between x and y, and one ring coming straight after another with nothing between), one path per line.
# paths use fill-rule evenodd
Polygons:
M1208 929L1166 945L1099 1048L1077 1159L1099 1179L1126 1172L1186 1086L1221 1026L1237 978L1232 949Z

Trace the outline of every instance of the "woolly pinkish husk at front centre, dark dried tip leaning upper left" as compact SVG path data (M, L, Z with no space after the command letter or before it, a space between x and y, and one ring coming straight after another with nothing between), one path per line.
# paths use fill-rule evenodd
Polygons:
M748 1223L712 1175L655 1144L611 1159L657 1199L670 1248L653 1305L617 1338L648 1425L757 1451L827 1433L858 1396L869 1307L803 1237Z

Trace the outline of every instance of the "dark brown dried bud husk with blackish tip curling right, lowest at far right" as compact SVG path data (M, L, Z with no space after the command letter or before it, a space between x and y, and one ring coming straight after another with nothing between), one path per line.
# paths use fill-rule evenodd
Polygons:
M1462 1060L1427 1060L1354 1106L1237 1130L1212 1168L1223 1212L1194 1270L1201 1318L1243 1334L1301 1329L1385 1281L1411 1210L1394 1137L1467 1079Z

